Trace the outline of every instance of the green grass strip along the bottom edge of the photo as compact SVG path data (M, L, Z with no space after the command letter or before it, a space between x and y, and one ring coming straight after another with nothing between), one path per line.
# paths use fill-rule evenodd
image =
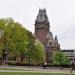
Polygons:
M75 74L0 72L0 75L75 75Z

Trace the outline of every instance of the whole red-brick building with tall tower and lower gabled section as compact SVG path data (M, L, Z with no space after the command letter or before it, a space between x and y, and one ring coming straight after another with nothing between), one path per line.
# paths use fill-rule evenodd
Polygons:
M58 43L57 36L53 38L46 9L39 9L39 13L35 21L35 37L44 45L46 62L52 62L52 54L54 51L60 50L60 45Z

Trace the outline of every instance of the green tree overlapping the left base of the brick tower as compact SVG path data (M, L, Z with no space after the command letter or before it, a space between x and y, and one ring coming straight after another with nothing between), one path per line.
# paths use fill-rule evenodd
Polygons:
M41 42L35 40L34 36L30 32L28 32L28 38L26 56L29 59L29 63L31 63L31 60L43 62L45 59L44 46L41 44Z

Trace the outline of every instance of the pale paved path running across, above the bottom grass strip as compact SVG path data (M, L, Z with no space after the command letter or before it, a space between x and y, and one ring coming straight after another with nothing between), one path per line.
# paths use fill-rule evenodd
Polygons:
M0 68L18 69L18 70L0 70L0 72L40 72L40 73L64 73L71 74L70 68L46 68L42 67L29 67L29 66L0 66ZM75 71L73 72L75 74Z

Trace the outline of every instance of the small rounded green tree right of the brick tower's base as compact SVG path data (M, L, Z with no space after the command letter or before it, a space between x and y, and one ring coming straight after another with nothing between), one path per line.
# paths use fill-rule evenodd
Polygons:
M57 51L53 53L53 63L56 65L67 65L69 59L64 55L64 53Z

